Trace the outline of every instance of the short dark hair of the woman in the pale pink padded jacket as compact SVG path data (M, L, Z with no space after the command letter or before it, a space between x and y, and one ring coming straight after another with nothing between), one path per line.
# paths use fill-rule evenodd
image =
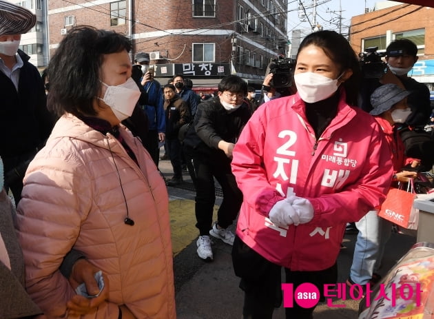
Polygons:
M65 112L95 115L93 101L101 94L103 55L126 50L131 41L114 31L81 25L68 31L48 65L48 107L59 116Z

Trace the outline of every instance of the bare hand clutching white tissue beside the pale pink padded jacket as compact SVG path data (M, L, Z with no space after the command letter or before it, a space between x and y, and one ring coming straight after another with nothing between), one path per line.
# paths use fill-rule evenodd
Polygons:
M72 267L71 276L68 278L72 288L76 289L82 282L86 285L86 290L90 295L99 294L95 298L85 298L84 296L76 295L67 303L68 315L78 316L94 311L101 303L105 302L109 295L109 281L107 276L103 274L104 288L99 291L98 282L94 278L94 274L100 269L89 263L84 258L76 261Z

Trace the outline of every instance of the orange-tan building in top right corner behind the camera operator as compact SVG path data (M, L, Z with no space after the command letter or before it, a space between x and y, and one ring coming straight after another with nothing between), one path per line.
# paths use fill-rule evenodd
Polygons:
M409 75L434 90L434 8L379 2L374 11L351 19L349 34L355 52L371 47L386 52L391 41L410 39L417 45L419 59Z

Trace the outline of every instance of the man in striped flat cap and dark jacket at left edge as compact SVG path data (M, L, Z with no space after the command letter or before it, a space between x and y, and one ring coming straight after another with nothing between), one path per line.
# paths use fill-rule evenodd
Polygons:
M21 198L25 169L53 125L41 75L29 62L30 56L18 50L21 34L35 23L29 10L0 0L0 156L5 189L12 191L15 203Z

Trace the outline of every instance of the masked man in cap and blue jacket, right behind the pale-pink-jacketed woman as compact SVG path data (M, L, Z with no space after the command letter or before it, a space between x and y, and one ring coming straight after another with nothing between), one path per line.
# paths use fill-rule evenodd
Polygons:
M161 91L161 85L158 81L154 80L154 74L149 72L149 54L144 52L138 52L134 56L134 62L136 65L141 65L143 72L143 78L141 85L147 93L147 103L141 105L143 112L147 115L149 121L149 127L147 131L147 138L144 141L146 150L151 154L155 165L158 167L158 159L160 149L158 142L165 141L165 115L163 109L163 92Z

